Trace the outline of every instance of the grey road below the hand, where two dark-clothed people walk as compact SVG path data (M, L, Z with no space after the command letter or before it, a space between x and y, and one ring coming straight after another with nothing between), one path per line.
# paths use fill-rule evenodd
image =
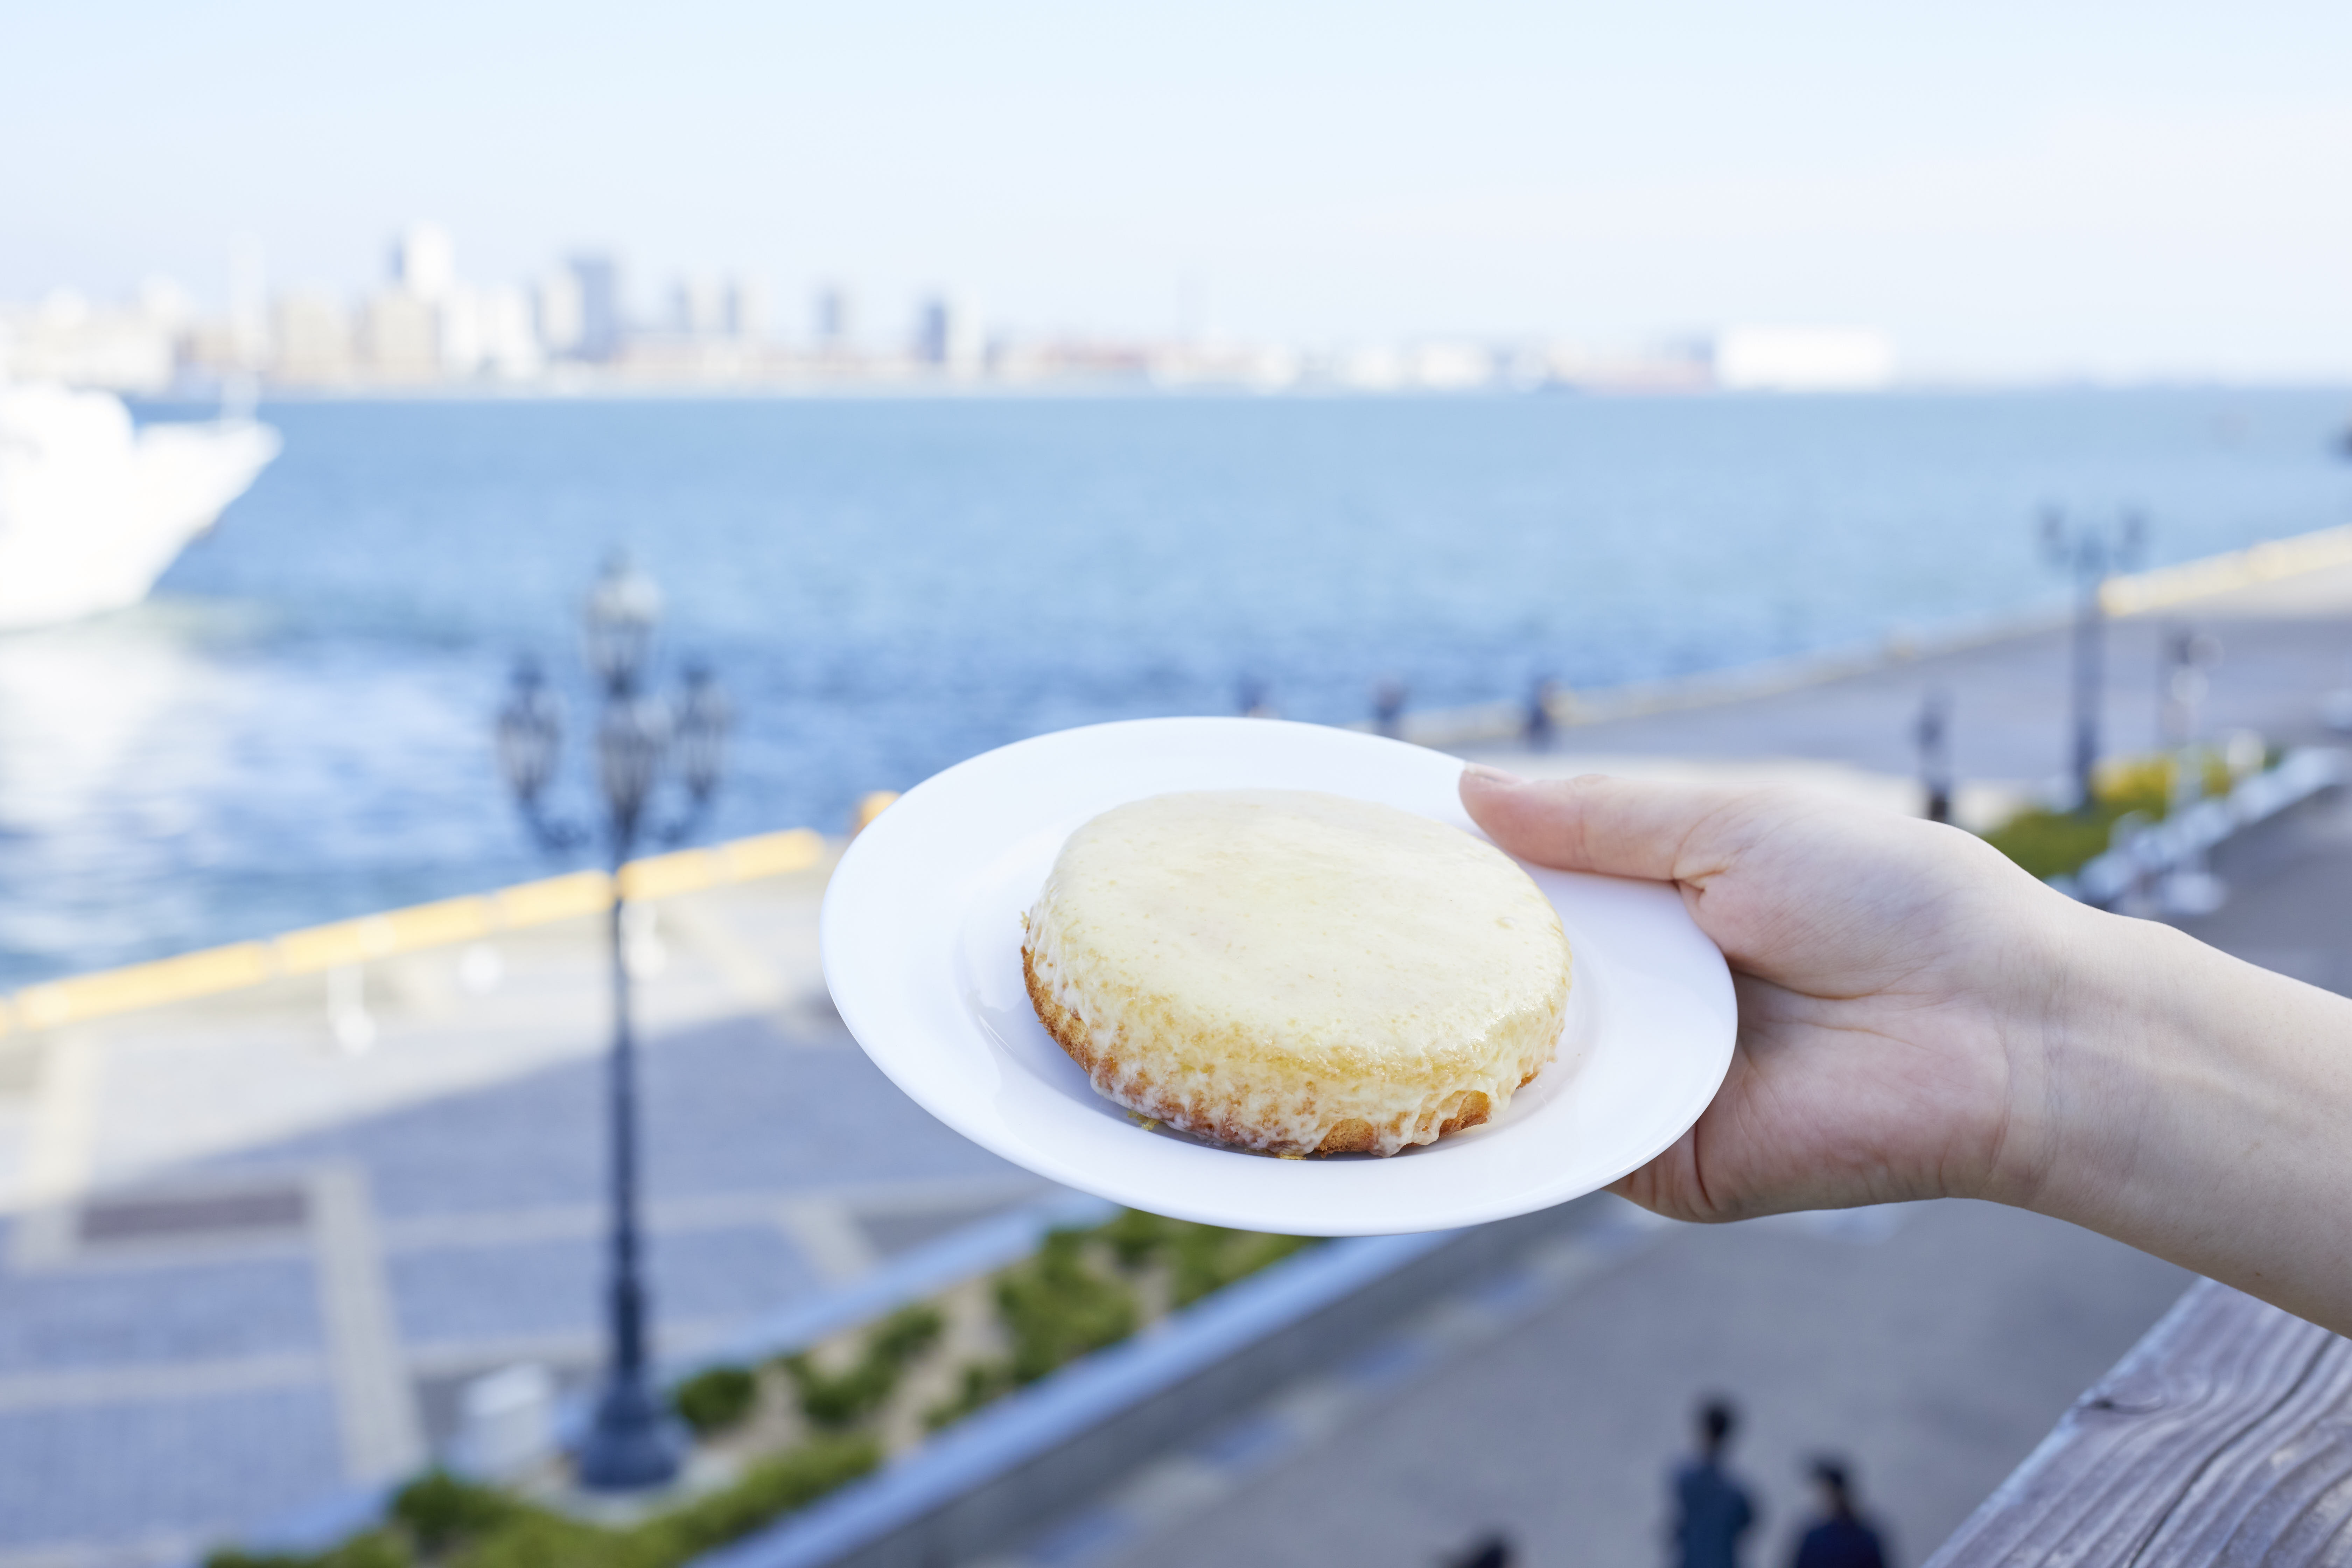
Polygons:
M1317 1380L1355 1399L1308 1441L1251 1443L1265 1420L1200 1434L990 1568L1425 1568L1484 1530L1531 1568L1644 1568L1710 1394L1748 1415L1733 1462L1764 1516L1748 1561L1788 1561L1802 1467L1839 1453L1917 1563L2187 1286L1987 1204L1665 1227L1557 1291L1541 1265L1432 1314L1406 1345L1435 1354ZM1329 1401L1284 1389L1268 1410Z

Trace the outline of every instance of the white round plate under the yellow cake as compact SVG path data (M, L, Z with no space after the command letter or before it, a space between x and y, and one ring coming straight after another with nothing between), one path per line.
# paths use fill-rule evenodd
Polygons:
M908 790L826 891L833 1004L917 1105L1068 1187L1178 1220L1303 1237L1449 1229L1639 1168L1731 1065L1724 954L1661 882L1529 867L1569 931L1559 1053L1491 1124L1390 1159L1272 1159L1141 1126L1030 1011L1021 914L1063 839L1171 790L1329 790L1477 832L1444 752L1277 719L1138 719L1021 741Z

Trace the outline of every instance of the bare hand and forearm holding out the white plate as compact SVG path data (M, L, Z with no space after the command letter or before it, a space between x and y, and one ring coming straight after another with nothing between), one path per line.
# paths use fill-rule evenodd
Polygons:
M1526 860L1675 882L1731 959L1731 1072L1625 1197L1682 1220L1994 1199L2352 1333L2352 1001L1832 797L1461 790Z

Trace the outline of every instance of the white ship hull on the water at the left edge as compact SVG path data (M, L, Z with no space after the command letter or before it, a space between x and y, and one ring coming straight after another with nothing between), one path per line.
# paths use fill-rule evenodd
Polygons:
M278 447L249 418L134 430L108 393L0 386L0 630L141 602Z

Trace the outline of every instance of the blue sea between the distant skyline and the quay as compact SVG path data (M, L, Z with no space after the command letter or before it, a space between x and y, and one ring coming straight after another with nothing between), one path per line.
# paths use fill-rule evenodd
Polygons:
M96 623L0 637L0 985L541 875L487 750L628 545L741 710L720 835L1091 719L1602 686L2352 520L2345 393L301 402ZM146 409L148 416L188 414ZM574 703L574 715L583 710ZM583 771L574 773L583 778Z

